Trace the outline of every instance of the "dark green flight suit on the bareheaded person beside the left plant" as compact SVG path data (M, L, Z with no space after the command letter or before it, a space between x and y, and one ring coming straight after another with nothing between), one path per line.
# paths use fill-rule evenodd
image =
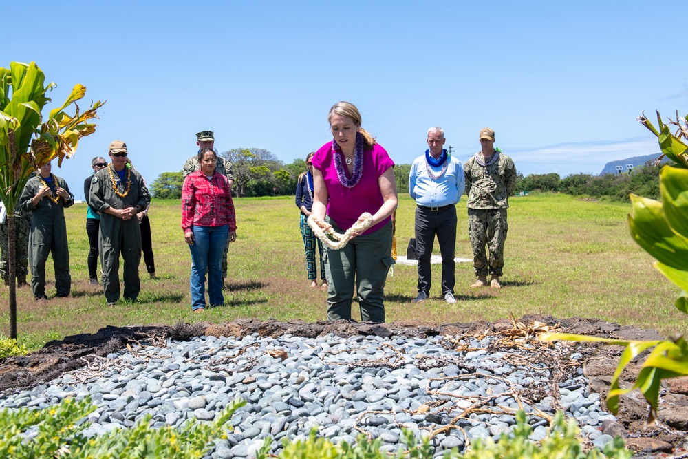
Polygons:
M55 268L55 288L58 297L67 297L72 291L72 276L69 274L69 246L67 244L67 223L65 222L65 207L74 204L74 196L69 191L65 179L52 175L50 193L55 196L55 187L59 186L69 193L69 198L58 197L52 202L49 196L44 196L38 205L34 206L33 198L43 187L41 178L36 175L29 179L24 186L19 205L25 212L32 213L29 231L29 267L31 269L31 289L35 298L45 297L45 261L52 253Z

